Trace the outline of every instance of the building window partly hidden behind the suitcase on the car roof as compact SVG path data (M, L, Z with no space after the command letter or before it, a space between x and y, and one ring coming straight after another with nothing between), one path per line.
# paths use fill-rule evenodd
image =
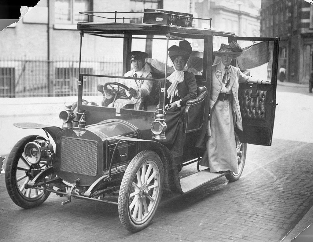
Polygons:
M130 2L131 11L130 12L143 12L145 8L156 9L163 8L163 0L131 0ZM130 23L142 23L142 15L135 14L135 18L130 19ZM137 17L137 18L136 18Z

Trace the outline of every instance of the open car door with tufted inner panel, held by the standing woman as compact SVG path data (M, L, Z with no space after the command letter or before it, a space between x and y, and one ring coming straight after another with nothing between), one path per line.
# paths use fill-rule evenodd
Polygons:
M276 107L279 38L234 37L243 54L233 61L246 75L271 80L271 85L239 83L243 131L235 129L241 142L271 145Z

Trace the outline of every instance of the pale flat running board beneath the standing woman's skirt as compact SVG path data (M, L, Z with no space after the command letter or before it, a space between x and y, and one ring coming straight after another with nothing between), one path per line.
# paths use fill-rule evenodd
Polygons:
M210 173L210 169L205 169L200 172L194 173L190 176L180 179L180 185L183 193L189 193L206 183L213 181L219 177L223 177L230 172L223 173Z

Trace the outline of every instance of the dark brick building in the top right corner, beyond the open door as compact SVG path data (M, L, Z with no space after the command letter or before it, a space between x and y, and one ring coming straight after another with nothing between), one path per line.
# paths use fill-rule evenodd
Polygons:
M308 83L313 68L313 5L303 0L262 0L261 37L280 37L278 66L287 81Z

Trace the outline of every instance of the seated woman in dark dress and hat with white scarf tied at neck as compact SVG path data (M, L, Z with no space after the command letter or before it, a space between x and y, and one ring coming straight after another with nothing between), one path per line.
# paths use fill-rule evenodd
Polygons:
M166 139L160 142L170 149L174 157L180 157L186 139L183 131L183 113L186 102L197 97L197 83L193 73L183 71L192 52L190 43L182 40L179 46L173 45L168 51L175 71L167 77Z

